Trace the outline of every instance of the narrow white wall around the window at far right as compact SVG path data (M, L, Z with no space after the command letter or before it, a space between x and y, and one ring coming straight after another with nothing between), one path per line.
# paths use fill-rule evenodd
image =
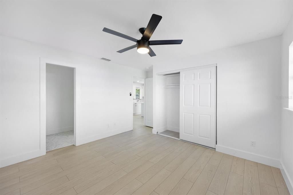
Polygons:
M289 83L289 45L293 41L293 18L282 34L282 66L281 66L281 82L282 93L280 96L288 96ZM282 126L281 126L281 164L282 173L286 180L287 187L293 194L293 112L283 108L288 108L288 99L279 100L282 102ZM284 174L285 173L285 174ZM286 178L287 176L287 178Z

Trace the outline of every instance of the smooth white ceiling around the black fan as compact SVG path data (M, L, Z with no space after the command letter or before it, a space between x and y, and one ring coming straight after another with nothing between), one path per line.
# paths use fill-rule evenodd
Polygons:
M281 35L293 1L1 1L1 34L58 47L139 69L224 47ZM103 27L139 39L151 14L163 18L151 40L157 54L116 51L134 42L102 32Z

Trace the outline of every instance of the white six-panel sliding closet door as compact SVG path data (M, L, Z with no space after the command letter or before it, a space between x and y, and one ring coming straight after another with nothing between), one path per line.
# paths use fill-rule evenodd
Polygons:
M216 67L180 72L180 139L216 147Z

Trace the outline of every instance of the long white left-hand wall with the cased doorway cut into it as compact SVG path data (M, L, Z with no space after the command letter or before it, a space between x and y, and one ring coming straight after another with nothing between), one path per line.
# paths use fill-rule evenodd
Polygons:
M40 57L76 64L76 145L132 129L132 77L144 71L11 37L0 42L0 167L40 155Z

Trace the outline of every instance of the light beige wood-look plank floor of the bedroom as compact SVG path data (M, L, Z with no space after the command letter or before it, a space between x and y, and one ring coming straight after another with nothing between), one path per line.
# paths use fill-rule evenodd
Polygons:
M1 168L0 194L289 194L277 168L152 134L137 119L133 131Z

